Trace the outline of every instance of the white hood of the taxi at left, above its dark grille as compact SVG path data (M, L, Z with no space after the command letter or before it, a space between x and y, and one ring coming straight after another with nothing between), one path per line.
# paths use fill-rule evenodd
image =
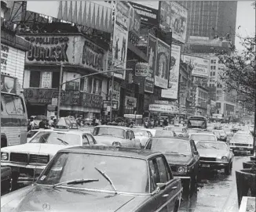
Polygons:
M60 149L71 147L69 145L56 145L45 143L26 143L16 146L8 146L2 150L2 152L8 153L30 153L30 154L46 154L54 156Z

